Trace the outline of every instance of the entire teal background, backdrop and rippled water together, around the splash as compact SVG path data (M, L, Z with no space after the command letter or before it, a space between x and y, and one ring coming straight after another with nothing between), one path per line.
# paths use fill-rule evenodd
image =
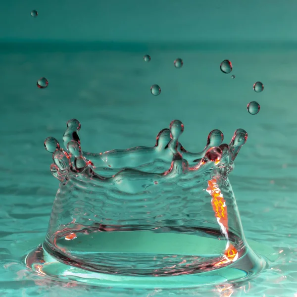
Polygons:
M71 118L82 124L82 148L94 152L153 146L175 118L185 125L180 141L191 151L202 150L213 129L227 143L237 128L247 130L230 180L247 241L273 247L280 258L255 280L230 285L232 296L295 296L296 6L289 0L1 3L0 296L200 296L62 287L26 270L21 257L43 241L58 188L43 142L53 136L61 143ZM173 66L177 57L181 69ZM230 75L219 70L224 59L233 63ZM36 81L43 76L49 86L41 90ZM252 90L258 80L260 94ZM153 84L162 90L157 97ZM247 112L252 100L261 105L254 116Z

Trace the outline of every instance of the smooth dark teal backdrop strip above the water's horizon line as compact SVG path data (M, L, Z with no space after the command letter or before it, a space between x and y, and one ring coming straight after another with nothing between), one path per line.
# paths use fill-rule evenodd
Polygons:
M3 0L0 39L292 41L296 11L296 0Z

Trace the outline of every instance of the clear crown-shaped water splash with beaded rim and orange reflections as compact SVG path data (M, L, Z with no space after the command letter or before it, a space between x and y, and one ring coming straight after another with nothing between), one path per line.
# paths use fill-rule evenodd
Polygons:
M162 288L243 280L266 267L247 245L228 180L245 130L229 145L213 130L193 153L174 120L153 147L90 153L81 148L80 128L76 119L67 122L66 149L45 141L60 186L28 267L68 281L84 275L100 286Z

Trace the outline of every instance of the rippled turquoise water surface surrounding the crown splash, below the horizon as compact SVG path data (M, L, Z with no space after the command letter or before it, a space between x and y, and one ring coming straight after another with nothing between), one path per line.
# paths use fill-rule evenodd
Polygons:
M202 150L213 129L226 141L237 128L247 130L230 181L247 241L279 254L273 269L244 284L215 288L209 296L294 296L296 50L290 43L2 44L0 294L199 296L202 289L73 289L32 275L21 260L44 240L58 188L43 147L46 137L61 140L66 121L78 118L84 150L152 146L156 133L178 118L185 125L181 142L190 151ZM143 61L146 53L149 63ZM181 69L174 67L177 57L184 61ZM229 75L219 69L224 59L233 64ZM37 88L40 77L49 80L48 88ZM256 81L264 84L262 93L252 90ZM160 86L159 96L151 95L153 84ZM257 115L247 112L253 100L261 105Z

